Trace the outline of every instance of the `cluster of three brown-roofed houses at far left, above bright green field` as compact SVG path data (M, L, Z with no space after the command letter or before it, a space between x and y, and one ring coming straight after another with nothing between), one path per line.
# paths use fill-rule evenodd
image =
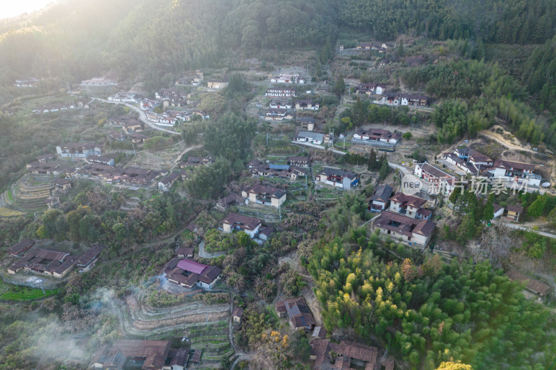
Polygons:
M104 249L104 246L101 245L91 246L83 255L77 256L49 249L31 249L34 244L35 242L32 239L24 239L6 250L10 255L19 258L8 267L8 274L25 271L63 278L74 267L77 267L80 272L90 269L95 265L101 251ZM29 251L30 249L31 251Z

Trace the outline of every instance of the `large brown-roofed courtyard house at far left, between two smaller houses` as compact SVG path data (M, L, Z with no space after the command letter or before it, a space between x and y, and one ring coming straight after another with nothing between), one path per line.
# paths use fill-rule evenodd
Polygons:
M24 270L62 278L74 267L76 259L76 255L66 252L33 249L8 267L8 273L16 274L18 271Z

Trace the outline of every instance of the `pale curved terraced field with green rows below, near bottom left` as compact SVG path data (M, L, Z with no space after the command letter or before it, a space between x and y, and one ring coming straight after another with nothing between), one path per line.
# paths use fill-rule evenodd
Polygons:
M189 337L191 348L203 351L202 363L194 369L213 368L224 356L234 354L228 339L229 303L207 304L188 297L179 305L153 308L130 296L122 302L117 315L126 337Z

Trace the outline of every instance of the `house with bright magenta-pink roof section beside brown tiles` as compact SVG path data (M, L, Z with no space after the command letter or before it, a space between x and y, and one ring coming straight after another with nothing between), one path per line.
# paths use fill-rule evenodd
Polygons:
M220 280L222 269L214 266L207 266L193 260L179 260L174 265L175 259L168 262L165 268L166 277L172 284L179 285L186 289L195 286L211 290Z

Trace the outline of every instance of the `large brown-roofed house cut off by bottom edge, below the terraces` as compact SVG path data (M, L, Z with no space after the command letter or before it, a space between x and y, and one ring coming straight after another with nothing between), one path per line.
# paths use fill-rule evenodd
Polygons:
M170 348L169 340L117 339L101 346L92 358L93 369L183 370L189 350Z

